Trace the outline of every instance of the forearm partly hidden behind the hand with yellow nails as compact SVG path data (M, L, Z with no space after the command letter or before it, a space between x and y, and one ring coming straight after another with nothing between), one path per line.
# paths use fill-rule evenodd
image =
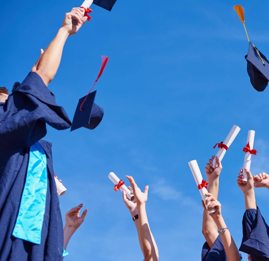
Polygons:
M208 192L212 193L213 196L217 199L218 197L218 179L209 181ZM213 218L207 213L207 211L203 212L203 225L202 225L202 233L204 235L205 240L210 248L212 248L216 238L218 237L217 226L213 220Z

